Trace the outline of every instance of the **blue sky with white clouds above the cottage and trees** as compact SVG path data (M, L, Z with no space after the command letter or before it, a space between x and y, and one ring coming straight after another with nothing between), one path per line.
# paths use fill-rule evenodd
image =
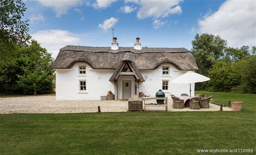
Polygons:
M256 45L255 0L23 0L30 34L52 57L66 45L184 47L195 35L220 35L228 46Z

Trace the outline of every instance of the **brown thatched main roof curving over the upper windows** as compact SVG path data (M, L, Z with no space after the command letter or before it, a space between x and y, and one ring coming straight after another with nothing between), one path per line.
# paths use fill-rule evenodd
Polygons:
M189 50L185 48L142 48L130 47L65 46L61 48L53 63L54 69L68 69L76 62L86 62L93 69L117 69L126 53L138 70L156 69L162 63L171 63L179 70L197 70L197 64Z

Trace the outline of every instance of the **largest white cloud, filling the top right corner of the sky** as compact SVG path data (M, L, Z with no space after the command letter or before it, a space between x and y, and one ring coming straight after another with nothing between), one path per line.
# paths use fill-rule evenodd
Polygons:
M255 7L255 1L226 1L218 11L199 20L199 32L220 35L228 46L255 46Z

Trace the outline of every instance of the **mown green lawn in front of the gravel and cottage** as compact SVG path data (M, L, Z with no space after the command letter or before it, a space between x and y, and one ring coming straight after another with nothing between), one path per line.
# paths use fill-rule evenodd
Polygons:
M255 154L256 95L196 93L226 105L243 101L242 111L1 114L0 154Z

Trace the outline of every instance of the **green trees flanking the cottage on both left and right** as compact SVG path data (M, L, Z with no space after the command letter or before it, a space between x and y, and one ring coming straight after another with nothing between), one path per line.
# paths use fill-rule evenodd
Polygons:
M53 58L28 33L22 21L21 0L0 2L0 93L44 94L55 87ZM256 46L227 47L226 40L212 34L196 34L191 52L199 74L210 81L196 83L196 89L256 93Z

